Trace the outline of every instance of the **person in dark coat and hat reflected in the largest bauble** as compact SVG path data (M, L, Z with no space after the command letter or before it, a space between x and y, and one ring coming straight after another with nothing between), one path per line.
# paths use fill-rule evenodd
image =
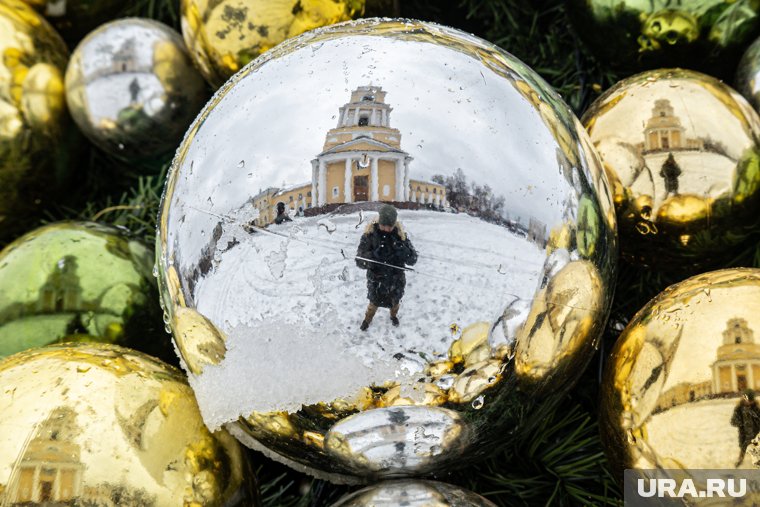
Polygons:
M406 287L406 266L417 262L417 252L397 221L396 208L384 204L378 219L370 222L356 251L356 265L367 270L369 305L360 329L366 331L379 307L390 308L391 323L398 326L398 310Z

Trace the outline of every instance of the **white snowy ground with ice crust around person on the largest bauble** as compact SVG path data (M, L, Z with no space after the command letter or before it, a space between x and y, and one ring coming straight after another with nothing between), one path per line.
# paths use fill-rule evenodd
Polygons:
M254 234L225 224L214 268L194 297L229 338L224 361L191 378L207 424L345 398L394 376L416 378L423 357L446 355L456 338L451 324L494 322L510 304L527 313L543 249L466 214L402 210L419 259L406 273L401 325L393 327L381 308L362 332L366 272L354 256L376 216L296 217Z

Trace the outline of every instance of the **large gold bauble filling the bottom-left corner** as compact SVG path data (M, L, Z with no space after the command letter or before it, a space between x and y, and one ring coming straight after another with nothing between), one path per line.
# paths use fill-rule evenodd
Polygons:
M241 446L157 359L51 345L0 360L0 386L5 505L259 505Z

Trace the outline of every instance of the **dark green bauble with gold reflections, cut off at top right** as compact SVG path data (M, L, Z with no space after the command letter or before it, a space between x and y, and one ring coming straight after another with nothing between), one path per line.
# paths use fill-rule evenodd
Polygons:
M758 0L572 0L593 54L626 71L686 67L730 77L760 34Z

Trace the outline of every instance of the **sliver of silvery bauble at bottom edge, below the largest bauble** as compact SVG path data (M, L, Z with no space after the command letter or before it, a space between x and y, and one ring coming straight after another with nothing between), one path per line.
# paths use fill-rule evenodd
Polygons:
M338 500L332 507L496 507L466 489L425 480L387 481L363 488Z

